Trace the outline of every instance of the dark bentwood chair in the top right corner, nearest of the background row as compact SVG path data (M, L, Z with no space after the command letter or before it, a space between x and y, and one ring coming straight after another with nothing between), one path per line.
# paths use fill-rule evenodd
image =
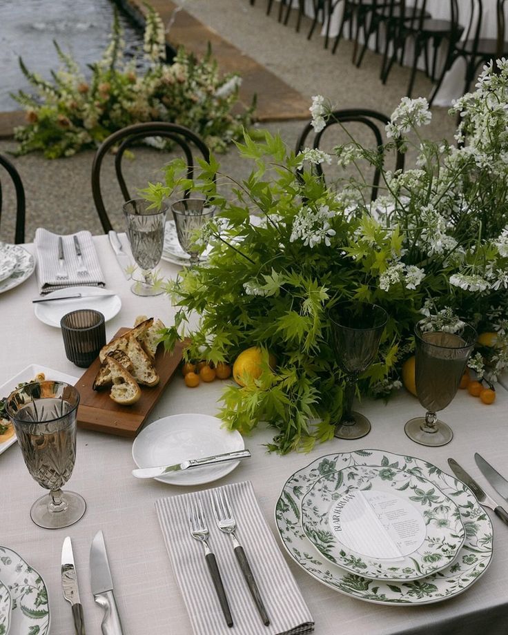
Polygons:
M429 104L436 98L438 90L442 86L444 76L453 64L462 58L466 63L464 92L469 92L471 84L476 79L476 73L482 64L500 57L508 57L507 41L507 7L508 0L496 0L496 37L480 37L483 26L483 14L485 10L484 0L459 0L457 5L458 23L467 23L465 35L461 39L450 39L447 59L436 88L434 88ZM469 10L469 20L465 19L466 10Z

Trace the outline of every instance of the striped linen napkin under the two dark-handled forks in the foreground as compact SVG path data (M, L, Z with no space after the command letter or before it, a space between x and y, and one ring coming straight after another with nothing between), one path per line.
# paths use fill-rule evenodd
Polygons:
M195 635L300 635L311 633L314 621L293 574L257 503L250 481L224 485L237 522L237 538L244 547L270 618L264 626L237 563L231 538L215 523L208 489L155 502L166 549ZM203 545L190 536L187 505L200 499L210 531L208 544L217 557L228 597L233 629L228 628L213 589Z

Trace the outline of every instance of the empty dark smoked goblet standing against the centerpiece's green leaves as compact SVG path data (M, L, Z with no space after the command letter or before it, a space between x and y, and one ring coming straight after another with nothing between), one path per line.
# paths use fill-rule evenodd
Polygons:
M339 439L360 439L371 430L366 416L352 410L358 377L372 364L388 313L377 304L340 302L330 313L332 342L341 369L346 373L342 418L335 426Z

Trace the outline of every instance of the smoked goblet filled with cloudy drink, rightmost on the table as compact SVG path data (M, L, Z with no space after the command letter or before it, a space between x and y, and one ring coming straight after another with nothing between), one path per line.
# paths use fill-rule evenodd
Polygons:
M469 324L456 333L426 329L427 320L415 326L415 380L418 400L427 413L409 420L404 431L421 445L437 447L453 438L453 431L436 412L446 408L456 395L476 342L476 331Z

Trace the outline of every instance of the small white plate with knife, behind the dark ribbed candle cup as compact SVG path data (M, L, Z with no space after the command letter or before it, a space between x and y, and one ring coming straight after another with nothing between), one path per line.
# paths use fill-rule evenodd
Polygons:
M111 320L121 309L121 300L118 295L110 295L109 289L101 289L98 286L68 286L66 289L58 289L48 293L47 297L65 297L81 293L82 296L73 300L61 300L61 302L39 302L34 304L35 317L44 324L60 328L60 320L66 313L77 311L78 309L94 309L104 315L105 322ZM101 297L104 295L105 297Z

